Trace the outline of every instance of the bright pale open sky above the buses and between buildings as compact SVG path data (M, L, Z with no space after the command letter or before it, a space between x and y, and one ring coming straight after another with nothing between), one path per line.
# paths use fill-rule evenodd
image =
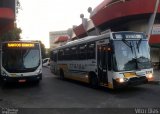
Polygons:
M80 25L80 14L89 18L88 7L94 9L103 0L19 0L17 26L22 40L41 40L49 48L49 32Z

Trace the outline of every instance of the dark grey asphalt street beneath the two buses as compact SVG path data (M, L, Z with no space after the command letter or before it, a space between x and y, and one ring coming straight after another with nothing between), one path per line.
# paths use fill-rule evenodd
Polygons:
M141 108L160 106L160 85L146 84L118 91L54 76L43 67L39 85L10 84L0 88L0 106L16 108Z

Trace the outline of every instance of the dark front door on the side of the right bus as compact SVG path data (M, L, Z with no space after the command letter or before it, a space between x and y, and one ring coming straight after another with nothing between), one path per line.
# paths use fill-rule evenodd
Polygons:
M100 83L108 84L107 45L99 45L97 48L98 77Z

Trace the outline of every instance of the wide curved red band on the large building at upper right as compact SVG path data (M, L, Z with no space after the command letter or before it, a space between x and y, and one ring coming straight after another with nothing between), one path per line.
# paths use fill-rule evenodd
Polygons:
M100 9L96 14L91 16L91 19L95 26L99 26L124 17L143 17L144 15L153 13L155 2L156 0L148 0L147 2L146 0L128 0L120 2ZM160 7L158 13L160 13Z

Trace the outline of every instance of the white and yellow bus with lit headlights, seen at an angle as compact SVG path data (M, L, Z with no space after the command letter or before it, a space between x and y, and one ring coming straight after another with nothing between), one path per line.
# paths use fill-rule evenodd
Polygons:
M140 32L108 32L51 51L50 69L61 79L121 88L153 80L148 40Z

